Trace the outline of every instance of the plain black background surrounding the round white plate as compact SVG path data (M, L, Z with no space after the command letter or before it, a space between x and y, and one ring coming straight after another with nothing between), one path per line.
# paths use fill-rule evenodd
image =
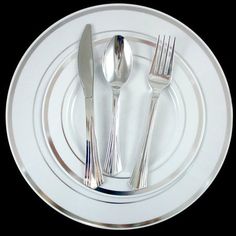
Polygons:
M42 1L20 5L10 3L1 9L1 111L5 111L7 90L13 72L30 44L35 38L62 17L85 7L120 1L57 1L53 4ZM121 1L123 2L123 1ZM229 1L233 2L233 1ZM210 47L220 62L227 77L233 103L235 102L235 87L233 63L235 63L235 24L233 23L233 6L227 1L219 4L210 4L207 1L127 1L148 6L163 11L195 31ZM4 15L6 13L6 15ZM3 72L3 73L2 73ZM207 75L206 75L207 79ZM216 104L217 105L217 104ZM4 117L4 114L3 114ZM1 215L2 223L8 233L15 229L19 232L32 234L49 231L59 233L127 233L110 232L95 229L74 222L54 211L45 204L28 186L18 171L12 158L6 140L5 121L1 122ZM214 180L213 184L194 204L177 216L144 229L129 231L129 234L150 233L156 234L192 234L206 231L212 233L215 229L223 230L227 235L233 228L235 198L233 190L233 140L226 161ZM4 220L3 220L4 219ZM34 230L31 230L30 227Z

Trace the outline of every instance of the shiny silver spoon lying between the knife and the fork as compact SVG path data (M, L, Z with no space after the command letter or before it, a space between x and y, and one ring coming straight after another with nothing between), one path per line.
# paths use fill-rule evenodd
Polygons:
M104 173L110 176L122 170L119 147L119 96L121 87L128 80L133 66L133 55L127 40L121 36L114 36L109 42L102 62L104 76L113 92L112 126L109 134Z

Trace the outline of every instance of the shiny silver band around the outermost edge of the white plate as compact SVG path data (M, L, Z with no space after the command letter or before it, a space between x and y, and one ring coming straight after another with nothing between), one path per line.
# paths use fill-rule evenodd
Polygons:
M110 10L110 8L113 7L115 10L130 10L130 11L137 11L137 12L145 12L149 15L153 16L158 16L161 18L164 18L165 20L168 20L170 23L177 24L178 27L181 27L181 29L185 32L188 32L191 34L192 39L194 41L197 41L199 43L199 46L206 52L206 54L209 56L211 62L217 69L217 73L220 75L221 78L221 84L223 89L225 90L226 96L226 104L228 106L228 121L227 121L227 128L226 128L226 137L224 140L223 148L221 150L220 158L212 171L211 175L209 176L208 181L203 185L188 201L186 201L184 204L180 205L178 208L174 209L171 212L168 212L167 214L154 218L152 220L147 220L143 222L138 222L135 224L107 224L107 223L99 223L99 222L94 222L90 221L88 219L81 218L77 215L74 215L71 212L68 212L67 210L63 209L61 206L57 205L52 199L50 199L31 179L29 174L24 168L24 164L22 163L18 150L16 148L14 136L12 133L12 120L11 120L11 102L14 94L14 90L18 81L18 77L21 74L21 70L24 67L24 65L27 63L28 59L30 58L32 52L34 52L35 48L52 32L54 32L56 29L58 29L60 26L66 24L67 22L73 20L74 18L77 18L78 15L79 17L82 15L86 15L92 12L96 11L102 11L102 10ZM6 131L7 131L7 137L9 141L9 146L12 152L12 155L14 157L14 160L16 162L16 165L18 169L20 170L22 176L26 180L26 182L30 185L30 187L33 189L33 191L44 201L46 202L49 206L51 206L54 210L58 211L59 213L63 214L64 216L78 221L80 223L97 227L97 228L103 228L103 229L115 229L115 230L126 230L126 229L135 229L135 228L142 228L150 225L154 225L157 223L160 223L164 220L167 220L175 215L177 215L179 212L183 211L187 207L189 207L193 202L195 202L205 191L206 189L210 186L210 184L213 182L215 179L216 175L218 174L219 170L222 167L222 164L225 160L225 157L227 155L230 141L231 141L231 136L232 136L232 128L233 128L233 107L232 107L232 100L231 100L231 95L230 95L230 90L229 86L226 80L226 77L224 75L224 72L217 61L216 57L212 53L212 51L209 49L209 47L205 44L205 42L196 34L194 33L190 28L188 28L186 25L175 19L174 17L171 17L168 14L165 14L161 11L149 8L149 7L144 7L140 5L134 5L134 4L102 4L102 5L97 5L97 6L92 6L88 7L79 11L76 11L61 20L55 22L53 25L51 25L49 28L47 28L43 33L41 33L35 40L34 42L30 45L30 47L27 49L27 51L24 53L23 57L21 58L20 62L18 63L18 66L13 74L9 90L8 90L8 95L7 95L7 101L6 101L6 111L5 111L5 117L6 117Z

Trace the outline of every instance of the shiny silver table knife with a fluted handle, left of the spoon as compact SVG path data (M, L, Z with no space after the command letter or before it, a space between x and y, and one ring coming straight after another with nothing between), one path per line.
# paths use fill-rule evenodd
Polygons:
M91 25L85 26L78 53L78 70L85 96L86 113L86 161L84 184L90 188L97 188L103 183L101 165L98 158L97 140L94 129L94 65Z

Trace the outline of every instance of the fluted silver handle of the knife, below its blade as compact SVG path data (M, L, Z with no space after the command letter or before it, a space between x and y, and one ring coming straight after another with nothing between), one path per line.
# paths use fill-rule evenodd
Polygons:
M97 188L104 180L98 158L97 140L94 129L93 98L85 98L86 111L86 162L84 184Z

